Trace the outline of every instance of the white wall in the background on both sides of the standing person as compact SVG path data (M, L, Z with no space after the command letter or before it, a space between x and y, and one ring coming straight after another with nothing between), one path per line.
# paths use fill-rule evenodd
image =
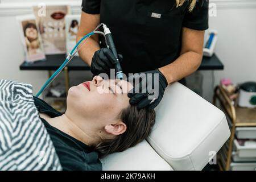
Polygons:
M74 1L73 1L74 2ZM75 9L79 9L77 1ZM256 1L220 0L217 17L210 17L210 28L218 30L217 56L225 65L224 71L215 71L215 84L220 78L230 77L235 83L256 81ZM9 7L9 9L8 9ZM34 93L47 80L45 71L19 71L24 56L19 42L15 14L28 13L22 5L18 9L0 4L0 78L29 82ZM203 97L212 100L212 72L200 71L204 75Z

